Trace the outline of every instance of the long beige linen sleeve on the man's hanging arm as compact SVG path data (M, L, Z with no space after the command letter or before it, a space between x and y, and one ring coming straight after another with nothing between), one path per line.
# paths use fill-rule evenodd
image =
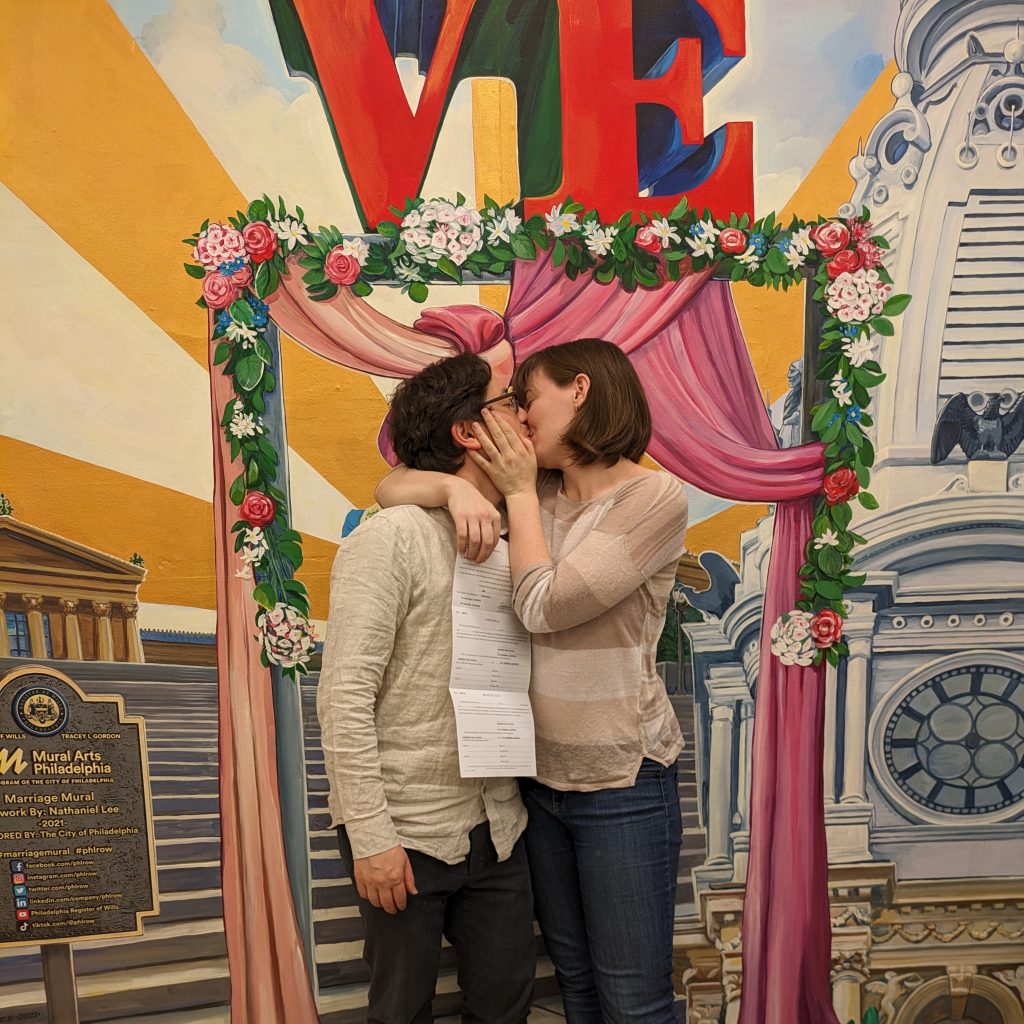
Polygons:
M365 523L342 544L331 572L317 712L330 784L355 857L400 843L384 795L375 707L409 607L403 543L392 523Z

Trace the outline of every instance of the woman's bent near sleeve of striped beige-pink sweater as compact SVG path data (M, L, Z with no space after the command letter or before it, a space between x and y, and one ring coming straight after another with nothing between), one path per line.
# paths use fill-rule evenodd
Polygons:
M678 561L686 494L667 474L616 493L590 532L557 562L528 565L513 581L512 604L530 633L555 633L613 608L658 569Z

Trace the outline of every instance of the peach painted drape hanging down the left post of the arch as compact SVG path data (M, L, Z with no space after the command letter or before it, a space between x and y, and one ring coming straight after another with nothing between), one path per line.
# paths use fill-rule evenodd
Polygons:
M220 750L221 889L230 968L232 1024L316 1024L302 940L289 898L278 797L270 673L253 640L252 581L234 573L228 498L238 473L220 427L234 397L230 380L213 362L213 523L217 569L217 701Z

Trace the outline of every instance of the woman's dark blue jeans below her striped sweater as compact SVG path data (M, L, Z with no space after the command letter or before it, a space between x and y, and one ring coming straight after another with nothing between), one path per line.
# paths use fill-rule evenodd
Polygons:
M676 766L645 758L623 790L519 784L537 920L567 1024L675 1024Z

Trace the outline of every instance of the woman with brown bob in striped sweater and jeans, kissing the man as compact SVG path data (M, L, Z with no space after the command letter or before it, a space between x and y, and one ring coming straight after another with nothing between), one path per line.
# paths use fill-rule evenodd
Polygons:
M650 410L614 345L543 349L512 393L525 436L484 408L468 456L505 496L513 606L535 635L537 776L520 788L537 916L569 1024L672 1024L682 737L654 656L686 498L639 465ZM467 557L494 547L494 508L459 477L396 470L378 500L443 504Z

